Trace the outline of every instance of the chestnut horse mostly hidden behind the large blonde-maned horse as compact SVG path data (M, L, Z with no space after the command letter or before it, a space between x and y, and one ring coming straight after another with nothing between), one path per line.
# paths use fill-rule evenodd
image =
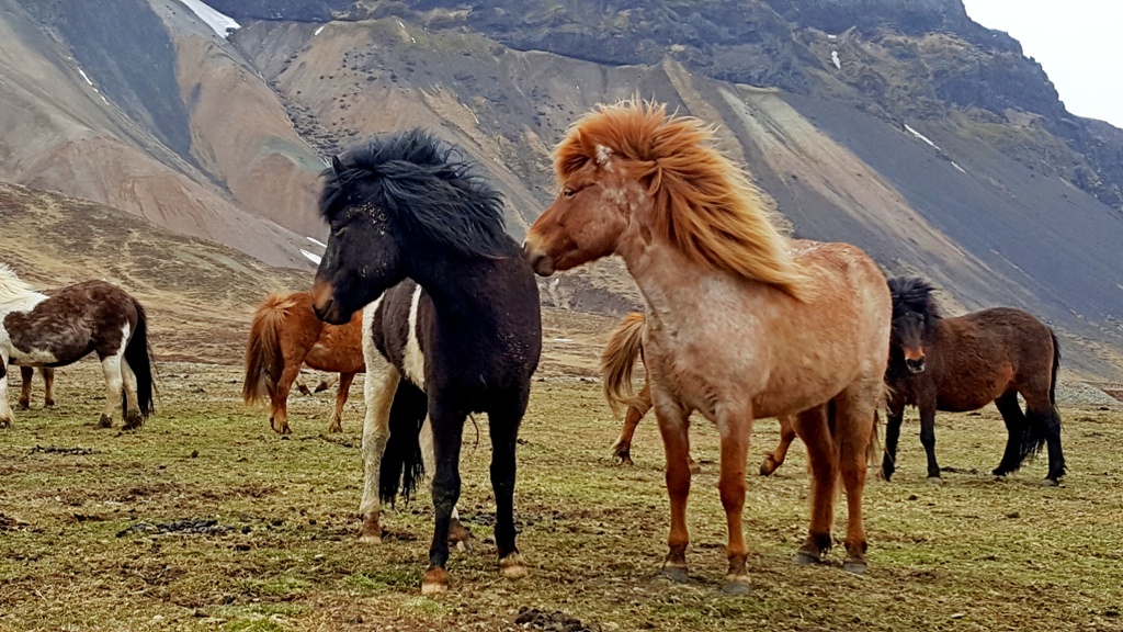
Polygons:
M628 397L628 412L624 416L624 425L620 428L620 436L611 448L612 458L626 466L634 464L631 459L631 441L636 435L636 427L639 425L640 419L651 409L651 389L645 380L643 388L639 391L639 395L631 397L629 390L631 387L631 374L629 373L626 378L620 372L624 369L631 371L636 358L643 356L643 325L646 322L647 319L643 315L638 312L627 314L620 320L620 324L617 325L612 335L609 336L609 343L604 345L604 351L601 353L601 372L604 376L603 383L605 387L604 396L609 400L609 405L611 406L618 401L618 398L610 395L610 383L622 385L623 391ZM612 413L619 417L619 406L614 407ZM764 462L760 463L760 476L770 475L784 462L784 459L787 457L787 449L795 437L792 418L785 416L778 421L780 442L774 451L765 457ZM702 471L702 468L694 461L693 457L691 457L690 462L693 473Z

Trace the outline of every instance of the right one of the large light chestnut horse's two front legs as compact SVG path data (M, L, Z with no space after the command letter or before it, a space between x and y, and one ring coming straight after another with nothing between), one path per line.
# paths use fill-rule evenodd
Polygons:
M749 436L752 433L751 407L724 410L718 416L718 435L721 439L721 475L718 490L721 505L725 509L725 526L729 540L725 557L729 569L722 592L728 595L745 595L749 592L749 576L745 572L745 527L741 523L745 512L745 462L749 454Z

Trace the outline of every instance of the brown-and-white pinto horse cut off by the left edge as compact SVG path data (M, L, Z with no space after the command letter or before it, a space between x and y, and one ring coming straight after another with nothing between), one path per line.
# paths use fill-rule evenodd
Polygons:
M106 408L99 425L113 425L120 398L125 428L140 427L154 409L144 307L117 286L97 280L66 286L47 296L0 263L0 427L11 425L9 362L65 367L91 351L97 352L106 376ZM25 385L29 383L25 373Z

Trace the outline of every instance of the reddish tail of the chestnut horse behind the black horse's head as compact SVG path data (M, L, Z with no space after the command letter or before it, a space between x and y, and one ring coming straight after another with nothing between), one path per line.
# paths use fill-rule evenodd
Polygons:
M281 327L295 305L293 295L274 292L254 314L246 344L246 381L241 386L241 400L246 404L261 403L277 387L284 370Z

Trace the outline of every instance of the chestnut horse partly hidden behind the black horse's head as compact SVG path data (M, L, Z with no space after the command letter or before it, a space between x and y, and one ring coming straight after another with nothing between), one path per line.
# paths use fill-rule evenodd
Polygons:
M312 312L309 292L272 294L257 308L246 344L246 381L241 399L255 405L270 396L270 425L277 434L290 434L289 391L308 364L318 371L339 373L336 408L328 432L343 432L344 405L355 373L363 362L363 315L344 325L327 325ZM317 390L320 390L317 388Z

